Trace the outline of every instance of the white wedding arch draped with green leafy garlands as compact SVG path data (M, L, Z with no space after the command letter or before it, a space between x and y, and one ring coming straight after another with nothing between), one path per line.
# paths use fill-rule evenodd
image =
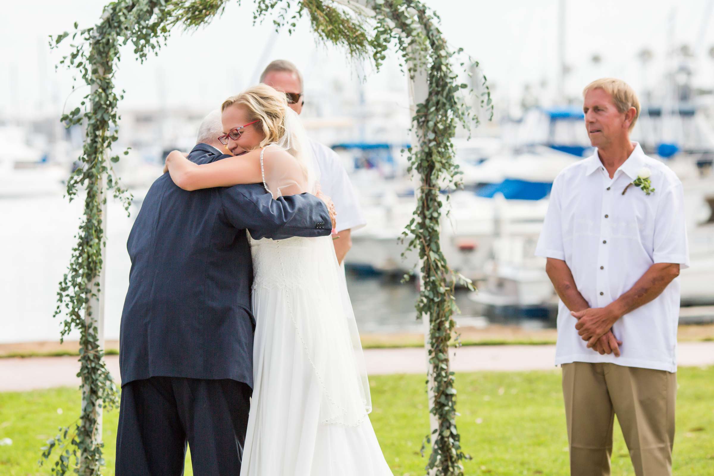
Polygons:
M99 23L86 29L74 24L74 33L51 36L52 47L70 38L71 53L60 64L75 69L91 92L81 107L64 114L69 127L86 127L79 166L67 181L69 201L84 192L84 216L79 225L69 268L59 283L55 315L63 315L61 339L79 330L81 363L81 415L74 427L61 427L56 437L43 447L42 457L56 460L52 472L64 475L100 475L104 465L101 441L102 410L118 405L114 380L104 363L104 274L106 246L106 198L113 195L129 211L131 196L121 188L112 163L111 146L117 140L117 106L124 91L114 88L120 47L134 45L136 59L143 62L158 54L171 31L191 31L221 16L230 0L116 0L104 7ZM240 3L240 0L237 0ZM431 445L426 465L428 474L463 475L463 460L456 429L456 389L449 368L448 348L455 335L453 316L456 283L471 283L453 273L441 252L440 222L442 193L459 186L451 139L461 126L477 126L479 116L493 116L486 77L478 64L463 59L462 49L453 49L438 28L438 15L420 0L255 0L253 22L273 15L276 31L291 34L296 21L306 18L318 39L343 47L353 59L374 61L379 68L386 52L396 46L406 67L412 107L410 173L416 173L416 208L403 231L406 250L416 250L420 258L420 290L416 302L419 318L428 323L427 388L430 396ZM468 62L468 66L465 66ZM456 67L476 79L473 88L461 83ZM469 72L470 71L470 72ZM473 81L473 80L472 80ZM469 105L467 98L476 98ZM476 106L476 107L473 107ZM128 151L124 151L124 154ZM446 196L448 201L448 195ZM71 462L73 459L75 462Z

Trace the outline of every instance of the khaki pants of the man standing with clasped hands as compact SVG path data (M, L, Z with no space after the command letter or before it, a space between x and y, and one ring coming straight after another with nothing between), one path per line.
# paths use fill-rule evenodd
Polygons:
M677 374L611 363L563 365L571 476L609 476L618 415L637 476L672 475Z

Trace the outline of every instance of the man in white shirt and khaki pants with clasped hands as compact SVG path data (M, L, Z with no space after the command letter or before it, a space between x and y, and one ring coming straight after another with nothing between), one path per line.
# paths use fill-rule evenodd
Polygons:
M583 96L597 150L553 181L535 250L560 297L570 474L610 474L617 415L635 475L671 475L677 276L689 267L682 183L630 142L630 86L600 79Z

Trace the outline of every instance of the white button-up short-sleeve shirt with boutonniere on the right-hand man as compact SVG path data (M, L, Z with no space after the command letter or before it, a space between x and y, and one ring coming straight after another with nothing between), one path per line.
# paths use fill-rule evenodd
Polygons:
M655 188L646 195L630 186L647 167ZM548 212L535 255L564 260L575 285L591 308L603 308L633 287L653 263L689 267L682 183L664 163L635 150L613 178L598 152L561 171L553 181ZM577 320L558 302L555 365L607 362L628 367L677 370L680 280L657 298L623 315L615 337L623 341L620 357L587 348L575 329Z

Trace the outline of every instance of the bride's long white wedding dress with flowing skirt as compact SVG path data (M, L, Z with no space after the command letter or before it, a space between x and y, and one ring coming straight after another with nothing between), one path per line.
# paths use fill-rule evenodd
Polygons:
M256 333L241 476L391 476L331 237L249 240Z

